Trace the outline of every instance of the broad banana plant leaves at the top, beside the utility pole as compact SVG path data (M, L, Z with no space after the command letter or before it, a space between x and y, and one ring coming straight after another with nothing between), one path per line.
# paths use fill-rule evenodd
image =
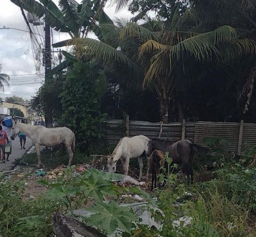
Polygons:
M18 7L49 23L56 31L67 32L71 38L83 37L88 28L95 24L103 11L104 0L59 0L58 6L52 0L11 0Z

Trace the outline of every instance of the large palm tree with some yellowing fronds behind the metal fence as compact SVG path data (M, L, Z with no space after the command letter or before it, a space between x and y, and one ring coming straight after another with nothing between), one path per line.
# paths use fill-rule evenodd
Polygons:
M204 33L189 32L183 31L180 24L183 19L179 18L176 9L168 27L159 20L144 26L132 22L123 27L102 23L98 26L103 32L101 41L76 38L59 42L55 46L84 47L87 53L94 54L105 63L115 61L133 73L136 70L134 65L139 62L145 73L143 84L153 87L157 92L161 120L167 122L170 99L173 99L180 85L187 83L184 78L193 77L186 75L191 67L212 61L221 64L255 50L253 41L240 40L236 30L230 26L221 26ZM198 76L198 72L194 73Z

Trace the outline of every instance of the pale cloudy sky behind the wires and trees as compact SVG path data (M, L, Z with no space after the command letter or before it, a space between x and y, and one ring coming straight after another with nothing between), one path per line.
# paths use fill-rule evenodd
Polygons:
M54 0L55 1L55 0ZM78 1L77 1L78 2ZM105 12L114 17L132 17L131 13L123 10L115 13L115 8L108 4ZM3 27L15 29L1 29ZM18 96L24 99L31 99L35 96L38 88L44 83L44 67L41 63L41 55L37 51L43 49L44 31L43 26L32 26L37 34L37 44L32 47L30 36L20 8L10 0L0 2L0 64L1 73L10 75L10 86L4 84L4 91L0 91L3 99L10 96ZM20 31L24 30L24 31ZM90 37L90 35L89 35ZM53 30L53 42L69 39L66 33L59 33ZM54 49L57 50L57 49ZM37 59L37 60L36 60ZM58 53L54 53L54 59L58 61ZM37 68L37 69L36 69Z

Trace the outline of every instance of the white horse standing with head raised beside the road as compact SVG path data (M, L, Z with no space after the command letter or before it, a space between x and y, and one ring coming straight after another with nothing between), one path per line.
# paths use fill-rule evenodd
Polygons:
M18 132L26 134L35 144L36 155L38 157L37 166L40 167L40 145L43 146L56 146L61 143L65 145L68 153L68 166L71 165L73 159L73 153L75 152L75 134L67 127L55 127L54 129L48 129L41 125L29 125L22 124L15 121L12 125L11 139L14 140Z

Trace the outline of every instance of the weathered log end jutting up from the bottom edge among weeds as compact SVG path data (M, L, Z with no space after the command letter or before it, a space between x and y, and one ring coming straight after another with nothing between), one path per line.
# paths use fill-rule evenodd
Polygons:
M83 222L60 214L59 211L53 214L53 229L57 237L106 237Z

